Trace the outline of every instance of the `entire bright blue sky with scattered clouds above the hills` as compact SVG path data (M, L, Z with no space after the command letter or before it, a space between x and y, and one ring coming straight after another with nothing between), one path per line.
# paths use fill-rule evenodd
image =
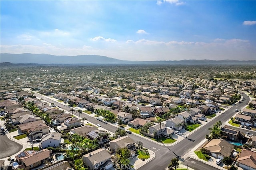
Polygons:
M1 53L256 59L256 1L0 1Z

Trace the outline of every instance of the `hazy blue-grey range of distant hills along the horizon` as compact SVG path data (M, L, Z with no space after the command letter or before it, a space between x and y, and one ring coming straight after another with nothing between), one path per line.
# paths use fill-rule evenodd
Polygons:
M159 64L159 65L256 65L256 61L238 60L180 60L180 61L125 61L101 55L49 55L49 54L0 54L1 66L12 66L12 63L37 64ZM33 64L33 65L37 65Z

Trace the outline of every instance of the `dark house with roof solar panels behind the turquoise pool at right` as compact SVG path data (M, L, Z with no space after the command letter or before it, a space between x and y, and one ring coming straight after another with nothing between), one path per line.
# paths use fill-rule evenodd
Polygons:
M234 130L227 125L221 127L220 130L221 134L226 136L228 140L234 140L236 142L240 142L240 140L242 140L245 136L243 132L240 132L239 130Z

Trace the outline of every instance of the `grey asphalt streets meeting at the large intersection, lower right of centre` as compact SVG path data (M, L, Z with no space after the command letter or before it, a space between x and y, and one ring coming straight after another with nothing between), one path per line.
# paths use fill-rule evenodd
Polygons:
M69 111L70 108L66 107L64 105L61 105L60 103L57 103L56 101L53 101L49 98L46 98L38 93L35 93L39 98L43 98L45 101L49 103L54 103L55 105L60 105L62 109L65 109L66 111ZM233 106L232 109L229 109L228 111L222 113L222 115L219 115L214 119L214 121L208 122L204 127L199 128L196 132L190 134L187 136L186 139L181 140L174 146L166 147L160 144L156 144L155 142L152 142L150 140L147 140L145 138L142 138L140 136L137 136L135 134L128 134L134 141L142 141L143 145L146 148L150 148L153 150L156 154L156 157L142 166L141 170L164 170L168 164L170 163L170 160L174 157L182 157L183 155L187 154L192 148L194 148L198 143L200 143L202 140L205 139L206 134L209 134L208 128L213 127L214 123L217 121L221 121L222 123L225 123L232 117L234 114L236 114L235 109L241 110L248 102L249 102L249 97L247 95L244 95L244 101L242 103L238 103L237 105ZM77 116L79 116L78 113L75 113ZM98 124L100 121L96 120L95 118L92 118L86 114L82 114L81 117L86 117L88 121ZM105 123L100 123L102 128L105 128L106 130L109 130L111 132L115 132L116 127L112 125L108 125ZM155 148L155 149L154 149ZM190 158L192 159L192 158ZM191 161L191 160L189 160ZM208 164L204 164L203 162L194 160L196 162L196 165L193 166L193 164L189 164L189 167L193 168L194 170L202 170L202 169L207 169L207 170L218 170L218 168L215 168L213 166L210 166Z

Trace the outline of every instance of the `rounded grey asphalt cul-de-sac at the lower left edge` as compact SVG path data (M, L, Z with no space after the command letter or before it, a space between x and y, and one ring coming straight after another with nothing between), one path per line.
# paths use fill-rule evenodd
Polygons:
M22 149L22 145L11 140L6 136L5 133L1 133L0 135L0 158L6 158L8 156L12 156Z

